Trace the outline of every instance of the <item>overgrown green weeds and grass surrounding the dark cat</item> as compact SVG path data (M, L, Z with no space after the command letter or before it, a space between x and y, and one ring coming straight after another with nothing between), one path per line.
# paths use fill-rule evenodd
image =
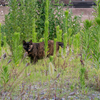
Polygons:
M88 99L86 95L100 91L100 4L96 18L84 21L83 27L78 16L72 19L59 1L54 4L10 0L10 13L5 25L0 24L0 99L67 100L77 93L85 95L79 99ZM31 64L23 39L44 41L46 55L47 41L54 40L54 55ZM56 41L64 43L58 53Z

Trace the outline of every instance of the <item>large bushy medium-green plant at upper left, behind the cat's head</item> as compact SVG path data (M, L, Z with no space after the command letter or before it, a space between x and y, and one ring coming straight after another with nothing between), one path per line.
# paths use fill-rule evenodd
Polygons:
M5 35L12 51L12 37L15 32L20 33L20 43L23 39L32 37L33 20L36 18L36 0L10 0L9 14L5 16ZM20 6L19 6L20 4ZM23 33L23 34L22 34Z

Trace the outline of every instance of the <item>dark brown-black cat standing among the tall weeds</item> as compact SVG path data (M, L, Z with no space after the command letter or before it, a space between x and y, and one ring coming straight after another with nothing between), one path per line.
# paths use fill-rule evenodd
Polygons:
M56 52L59 50L59 46L63 47L62 42L56 42ZM44 42L40 43L32 43L32 40L29 42L26 42L23 40L23 48L28 53L28 56L30 57L31 63L36 63L38 59L41 59L45 56L45 49L44 49ZM49 40L48 41L48 53L47 57L50 55L53 55L54 52L54 41Z

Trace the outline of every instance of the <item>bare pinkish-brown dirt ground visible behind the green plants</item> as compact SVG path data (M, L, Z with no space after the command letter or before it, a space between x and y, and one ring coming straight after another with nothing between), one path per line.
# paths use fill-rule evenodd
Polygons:
M72 10L73 15L81 15L83 13L82 16L82 21L84 21L85 19L93 19L94 16L92 15L92 13L94 12L93 8L69 8L70 10ZM63 10L66 10L66 7L63 8ZM5 14L9 13L9 7L5 7L5 6L0 6L0 23L4 24L5 21Z

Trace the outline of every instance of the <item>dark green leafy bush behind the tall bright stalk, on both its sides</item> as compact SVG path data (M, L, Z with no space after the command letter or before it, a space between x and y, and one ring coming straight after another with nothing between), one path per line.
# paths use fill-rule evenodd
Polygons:
M59 2L59 0L58 0ZM38 13L37 13L37 18L36 18L36 31L37 31L37 36L38 39L41 37L44 37L44 26L45 26L45 5L46 5L46 0L41 0L37 1L37 6L38 6ZM52 2L49 0L49 8L48 11L50 15L48 16L49 18L49 39L54 39L56 37L56 26L60 25L61 27L63 26L62 20L63 20L63 4L59 7L55 7L55 2Z

